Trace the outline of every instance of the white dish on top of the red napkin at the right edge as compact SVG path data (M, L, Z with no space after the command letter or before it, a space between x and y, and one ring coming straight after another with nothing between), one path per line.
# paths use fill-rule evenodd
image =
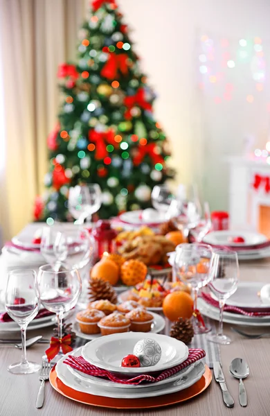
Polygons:
M226 300L226 304L251 311L255 311L255 309L269 310L270 307L263 304L258 296L262 286L265 284L258 281L240 281L237 291Z

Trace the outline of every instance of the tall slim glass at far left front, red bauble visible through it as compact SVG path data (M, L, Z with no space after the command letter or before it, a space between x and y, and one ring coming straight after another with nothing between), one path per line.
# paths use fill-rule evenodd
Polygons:
M8 273L5 308L10 318L21 328L21 362L12 364L8 371L13 374L31 374L40 369L40 365L26 358L26 328L39 310L39 290L35 270L12 270Z

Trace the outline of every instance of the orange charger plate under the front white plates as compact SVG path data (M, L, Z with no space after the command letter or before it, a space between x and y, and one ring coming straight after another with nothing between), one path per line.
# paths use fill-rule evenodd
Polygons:
M206 365L206 371L197 383L191 387L181 390L180 392L172 393L170 395L163 395L156 397L145 397L143 399L111 399L111 397L94 396L88 393L78 392L73 388L68 387L60 379L57 378L55 368L51 370L50 383L53 388L61 395L68 397L71 400L79 401L80 403L90 404L91 406L99 406L105 408L115 409L140 409L140 408L156 408L162 406L170 406L171 404L181 403L192 399L208 388L212 381L212 373Z

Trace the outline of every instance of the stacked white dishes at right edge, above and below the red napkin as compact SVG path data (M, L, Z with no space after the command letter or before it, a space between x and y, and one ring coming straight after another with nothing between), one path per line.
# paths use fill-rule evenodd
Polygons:
M265 286L260 282L242 281L237 291L226 301L228 306L237 306L247 312L267 312L267 316L246 316L240 313L224 312L223 320L228 324L248 327L270 327L270 304L265 304L260 298L260 291ZM219 320L219 308L198 299L199 311L208 318Z

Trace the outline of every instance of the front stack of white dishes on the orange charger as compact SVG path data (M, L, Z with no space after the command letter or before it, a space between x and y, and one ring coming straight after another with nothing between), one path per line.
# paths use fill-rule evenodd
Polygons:
M84 347L75 349L73 356L83 356L92 365L114 372L125 378L138 376L138 374L151 374L162 372L174 365L183 363L188 357L188 347L174 338L164 335L151 334L161 346L161 360L152 367L125 368L121 367L124 356L132 354L134 345L143 338L149 338L147 333L116 333L87 343ZM79 392L91 395L113 397L115 399L138 399L141 397L155 397L178 392L195 384L204 374L205 366L201 361L189 365L177 374L159 381L158 383L144 383L130 385L114 383L97 376L89 376L69 365L64 364L64 356L56 365L57 377L68 387Z

